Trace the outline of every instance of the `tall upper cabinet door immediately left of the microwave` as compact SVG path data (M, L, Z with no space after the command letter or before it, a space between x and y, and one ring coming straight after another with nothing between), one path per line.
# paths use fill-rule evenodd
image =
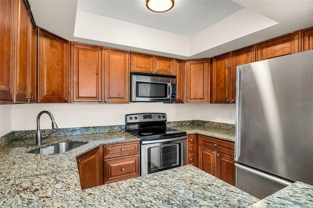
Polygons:
M105 49L105 102L129 103L130 52Z

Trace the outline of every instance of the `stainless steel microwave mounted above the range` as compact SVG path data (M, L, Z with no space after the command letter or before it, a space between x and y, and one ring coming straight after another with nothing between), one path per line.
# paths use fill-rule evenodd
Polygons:
M131 73L131 102L176 101L176 76Z

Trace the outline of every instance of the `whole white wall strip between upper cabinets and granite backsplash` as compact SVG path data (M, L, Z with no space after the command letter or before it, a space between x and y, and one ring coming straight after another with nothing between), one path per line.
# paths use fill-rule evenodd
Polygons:
M41 111L49 111L59 128L105 126L125 124L125 114L166 113L168 121L207 120L223 123L235 123L228 118L235 115L235 105L231 104L164 104L164 103L130 103L130 104L14 104L0 105L0 136L19 130L36 129L36 118ZM11 113L10 113L11 111ZM123 115L123 121L116 121L116 114ZM11 115L11 116L10 116ZM6 118L7 117L7 118ZM8 124L11 122L11 125ZM3 123L3 131L2 131ZM42 129L51 128L49 116L42 115Z

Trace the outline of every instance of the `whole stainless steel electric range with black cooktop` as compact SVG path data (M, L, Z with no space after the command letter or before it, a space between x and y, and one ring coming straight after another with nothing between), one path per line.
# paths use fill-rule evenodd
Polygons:
M141 139L141 175L187 164L186 132L167 128L166 114L130 114L125 120L126 131Z

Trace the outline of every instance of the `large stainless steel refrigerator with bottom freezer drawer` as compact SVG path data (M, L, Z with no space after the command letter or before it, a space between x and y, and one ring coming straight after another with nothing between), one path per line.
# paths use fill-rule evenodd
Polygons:
M313 50L236 70L236 187L263 199L313 185Z

